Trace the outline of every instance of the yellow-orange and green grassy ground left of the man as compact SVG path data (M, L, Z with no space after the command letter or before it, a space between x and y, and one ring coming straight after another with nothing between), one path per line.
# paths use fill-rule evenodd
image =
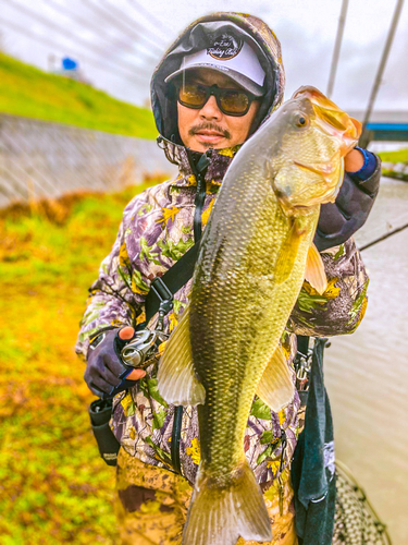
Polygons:
M87 289L110 252L119 194L65 196L0 217L0 544L115 544L114 469L74 353Z

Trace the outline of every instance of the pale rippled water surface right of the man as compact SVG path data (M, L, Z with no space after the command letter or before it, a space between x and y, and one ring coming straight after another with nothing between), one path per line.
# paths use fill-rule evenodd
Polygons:
M408 183L383 178L359 246L408 223ZM336 455L364 488L394 545L408 545L408 228L362 252L370 276L358 330L332 339L325 382Z

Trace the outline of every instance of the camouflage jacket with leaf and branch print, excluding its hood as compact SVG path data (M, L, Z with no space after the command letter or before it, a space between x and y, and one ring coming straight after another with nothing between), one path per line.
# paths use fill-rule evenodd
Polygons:
M125 208L116 241L102 262L99 278L90 288L76 351L86 358L89 339L98 331L145 322L144 301L151 280L163 275L194 245L193 219L196 180L185 148L177 146L180 174L137 195ZM203 228L236 148L212 154L207 170ZM316 337L353 332L367 305L368 277L353 240L322 253L329 286L319 295L306 281L282 337L287 364L293 371L296 335ZM188 302L189 281L174 298L174 310L165 319L172 331ZM157 317L150 320L153 327ZM294 371L293 371L294 373ZM114 399L111 427L123 448L141 461L171 469L171 436L174 408L160 397L157 365L145 378ZM295 380L295 374L294 374ZM297 392L288 407L272 412L255 398L244 449L251 468L263 483L276 477L293 456L299 427ZM228 409L230 410L230 409ZM285 434L282 433L285 431ZM287 447L281 465L282 437ZM181 436L183 475L194 482L200 459L197 410L185 408Z

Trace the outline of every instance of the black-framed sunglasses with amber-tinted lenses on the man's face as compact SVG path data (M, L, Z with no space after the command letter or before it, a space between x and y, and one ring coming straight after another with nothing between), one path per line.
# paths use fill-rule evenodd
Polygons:
M217 105L225 116L245 116L250 105L258 97L244 89L223 89L217 85L202 85L201 83L175 84L177 100L187 108L202 108L211 95L215 97Z

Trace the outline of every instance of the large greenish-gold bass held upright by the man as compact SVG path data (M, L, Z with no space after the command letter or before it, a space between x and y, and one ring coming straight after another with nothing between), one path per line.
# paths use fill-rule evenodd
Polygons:
M160 395L197 405L201 461L183 545L272 540L244 436L255 396L277 412L294 398L280 339L305 278L323 293L313 245L361 125L300 87L238 150L201 239L189 304L158 371Z

